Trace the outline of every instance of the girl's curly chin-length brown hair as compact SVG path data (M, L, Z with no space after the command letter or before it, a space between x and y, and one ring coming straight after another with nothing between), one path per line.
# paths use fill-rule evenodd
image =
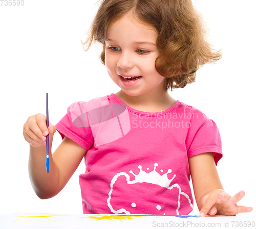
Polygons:
M195 82L200 66L221 58L221 50L212 49L207 41L203 20L191 0L103 0L88 39L82 42L83 49L88 50L92 43L100 42L100 60L105 64L106 31L111 23L131 12L158 33L160 55L155 67L166 78L166 90Z

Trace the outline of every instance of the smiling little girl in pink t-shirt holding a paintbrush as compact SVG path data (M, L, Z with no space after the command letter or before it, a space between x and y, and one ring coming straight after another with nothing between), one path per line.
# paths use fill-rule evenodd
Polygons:
M87 50L102 44L101 62L120 91L78 102L56 124L37 114L24 124L29 174L40 198L58 194L84 157L79 176L83 213L187 215L193 181L200 215L236 215L244 196L223 190L216 165L219 130L167 90L195 81L198 68L220 59L210 48L191 0L103 0ZM46 136L63 141L45 167Z

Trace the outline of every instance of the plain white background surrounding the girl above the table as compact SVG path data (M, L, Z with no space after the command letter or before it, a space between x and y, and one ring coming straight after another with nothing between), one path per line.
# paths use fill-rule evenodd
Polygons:
M2 1L0 1L2 4ZM78 175L52 199L39 199L28 176L29 144L23 138L28 116L44 113L49 93L50 121L67 107L119 88L100 63L97 47L87 53L80 40L97 9L95 1L32 1L0 6L1 166L0 214L14 212L82 213ZM255 201L255 1L197 0L209 39L222 48L218 64L205 65L197 82L169 92L213 119L221 132L224 157L218 171L224 189L244 190L241 205ZM54 136L53 150L59 145ZM198 209L191 214L198 214ZM250 213L256 215L255 210Z

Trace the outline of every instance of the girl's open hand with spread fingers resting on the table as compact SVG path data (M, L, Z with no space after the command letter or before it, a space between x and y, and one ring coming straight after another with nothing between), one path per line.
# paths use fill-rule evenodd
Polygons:
M244 191L240 191L234 196L230 196L224 190L215 189L210 194L206 195L204 205L200 210L200 216L209 215L227 215L234 216L238 213L251 212L251 207L238 206L239 202L245 195Z

